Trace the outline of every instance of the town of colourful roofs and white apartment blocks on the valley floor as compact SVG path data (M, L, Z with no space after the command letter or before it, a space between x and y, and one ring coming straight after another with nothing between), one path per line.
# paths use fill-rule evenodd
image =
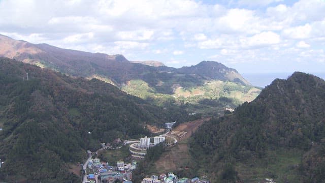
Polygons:
M112 182L132 182L133 170L137 168L138 162L141 161L146 155L146 150L150 147L154 147L160 143L164 143L165 146L177 144L178 139L186 136L185 131L172 131L172 127L175 124L166 123L166 129L159 129L160 134L154 137L143 137L140 139L125 140L122 146L128 146L129 153L132 156L132 160L129 162L117 161L116 164L110 165L108 162L103 162L97 156L98 152L103 149L114 149L111 144L103 143L102 148L92 153L88 151L89 158L83 164L83 171L85 173L83 183L112 183ZM120 139L116 140L121 142ZM115 147L121 148L122 146ZM87 174L88 172L88 174ZM210 182L207 176L204 177L193 177L178 178L173 172L167 174L161 173L158 175L151 175L145 177L142 183L208 183Z

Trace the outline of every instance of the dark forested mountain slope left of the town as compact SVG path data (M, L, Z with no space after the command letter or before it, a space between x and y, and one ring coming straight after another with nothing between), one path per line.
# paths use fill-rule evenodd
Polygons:
M73 182L68 162L116 138L147 135L146 124L183 121L182 109L163 109L97 79L72 78L0 58L0 179Z

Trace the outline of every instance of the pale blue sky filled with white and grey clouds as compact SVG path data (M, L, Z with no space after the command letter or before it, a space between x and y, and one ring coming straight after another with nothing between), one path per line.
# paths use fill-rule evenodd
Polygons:
M240 73L325 72L325 0L0 0L0 34Z

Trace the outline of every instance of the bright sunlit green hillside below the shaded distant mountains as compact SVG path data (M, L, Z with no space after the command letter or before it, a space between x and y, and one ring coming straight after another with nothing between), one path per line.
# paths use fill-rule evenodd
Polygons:
M161 94L143 80L131 80L122 86L127 94L140 97L159 106L169 104L186 105L188 112L223 113L225 108L235 109L238 105L255 99L261 89L236 82L209 80L202 85L172 85L172 94Z

